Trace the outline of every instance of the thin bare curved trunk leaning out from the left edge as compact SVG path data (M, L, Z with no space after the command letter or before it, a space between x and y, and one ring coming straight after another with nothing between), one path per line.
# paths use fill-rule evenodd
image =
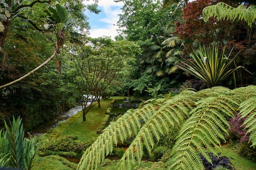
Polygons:
M45 62L43 62L43 64L41 64L40 66L36 67L34 70L30 71L30 72L27 73L26 75L23 75L22 77L20 77L20 78L14 80L14 81L12 81L12 82L9 82L9 83L7 83L7 84L4 84L4 85L0 86L0 90L3 89L3 88L5 88L5 87L11 86L11 85L13 85L13 84L15 84L15 83L17 83L17 82L20 82L21 80L27 78L29 75L31 75L31 74L35 73L36 71L38 71L40 68L42 68L43 66L45 66L49 61L51 61L51 60L54 58L54 56L56 55L57 51L58 51L58 46L55 45L55 49L54 49L52 55L51 55L47 60L45 60Z

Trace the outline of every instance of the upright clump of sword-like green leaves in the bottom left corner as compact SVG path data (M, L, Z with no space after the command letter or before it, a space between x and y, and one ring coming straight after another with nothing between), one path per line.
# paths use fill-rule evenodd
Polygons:
M43 142L34 148L34 139L24 138L20 117L13 117L11 128L5 123L6 131L0 130L0 166L11 166L19 170L31 170L32 161ZM6 155L1 157L1 155Z

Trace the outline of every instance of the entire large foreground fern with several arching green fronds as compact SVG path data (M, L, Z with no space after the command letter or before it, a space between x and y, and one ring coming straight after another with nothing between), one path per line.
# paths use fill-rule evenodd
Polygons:
M119 170L131 170L135 161L140 162L143 151L150 153L160 137L170 128L179 132L166 161L168 170L204 170L200 154L209 162L208 152L217 155L225 141L223 132L229 127L228 118L238 112L245 119L251 135L252 146L256 145L256 86L230 90L225 87L207 88L195 92L191 89L179 95L150 99L135 110L128 110L110 124L84 153L77 170L97 169L106 155L110 155L119 141L131 141L118 164ZM176 133L175 133L176 134Z

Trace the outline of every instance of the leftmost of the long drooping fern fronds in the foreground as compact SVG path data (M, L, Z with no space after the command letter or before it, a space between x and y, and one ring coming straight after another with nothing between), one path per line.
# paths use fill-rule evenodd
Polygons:
M122 117L110 124L97 140L88 148L81 158L77 170L97 169L101 161L109 155L117 142L125 142L129 137L136 136L141 128L141 121L147 122L157 107L146 104L138 110L128 110Z

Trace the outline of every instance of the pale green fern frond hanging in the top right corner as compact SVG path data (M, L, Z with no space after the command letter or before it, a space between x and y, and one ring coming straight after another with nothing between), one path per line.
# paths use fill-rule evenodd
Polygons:
M219 2L216 5L211 5L203 9L203 17L206 22L210 17L217 17L218 20L245 20L249 26L256 24L256 9L254 5L246 8L244 4L237 8L231 7L228 4Z

